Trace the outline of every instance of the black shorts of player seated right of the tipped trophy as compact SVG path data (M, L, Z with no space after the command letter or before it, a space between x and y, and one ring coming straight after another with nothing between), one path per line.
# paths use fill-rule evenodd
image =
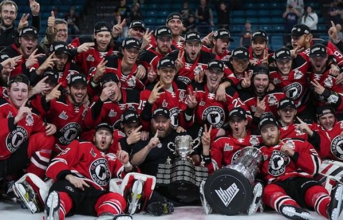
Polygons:
M282 187L286 194L293 198L301 207L308 207L305 203L306 190L312 186L321 186L317 180L301 176L290 177L283 181L273 182L273 184Z

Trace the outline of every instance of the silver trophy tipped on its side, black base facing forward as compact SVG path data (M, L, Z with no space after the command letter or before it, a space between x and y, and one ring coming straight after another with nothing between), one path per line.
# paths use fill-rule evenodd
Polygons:
M254 214L257 207L250 208L250 206L256 193L262 195L263 190L261 184L254 184L262 160L263 155L259 149L245 147L237 160L209 176L200 186L202 205L206 214L210 213L211 209L229 216L245 211L249 215Z

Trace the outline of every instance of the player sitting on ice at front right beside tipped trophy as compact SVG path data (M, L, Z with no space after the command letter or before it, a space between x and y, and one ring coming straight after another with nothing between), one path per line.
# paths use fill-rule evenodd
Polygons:
M343 208L343 185L337 184L330 196L313 178L321 163L313 146L301 140L280 141L280 130L272 117L263 118L259 129L264 143L260 148L264 156L261 174L268 182L265 204L288 219L308 219L310 213L301 208L307 206L337 220Z

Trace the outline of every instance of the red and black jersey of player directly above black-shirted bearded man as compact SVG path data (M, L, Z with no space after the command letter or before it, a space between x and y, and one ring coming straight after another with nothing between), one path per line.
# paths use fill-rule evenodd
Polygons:
M179 115L182 111L183 102L186 99L186 85L178 80L172 81L172 92L164 88L160 89L160 98L158 98L152 105L147 102L151 90L154 88L155 84L147 86L145 90L141 92L140 104L138 110L141 111L141 117L148 124L145 125L145 129L150 123L152 118L152 112L158 108L164 107L170 111L170 118L173 127L180 125ZM147 131L149 131L148 129Z

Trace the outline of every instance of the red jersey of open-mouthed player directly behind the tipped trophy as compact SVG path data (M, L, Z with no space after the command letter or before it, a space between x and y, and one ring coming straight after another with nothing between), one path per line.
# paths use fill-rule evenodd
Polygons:
M246 146L259 146L260 143L261 136L252 135L249 132L244 138L239 139L231 135L218 137L215 141L211 142L211 162L206 164L208 173L219 170L237 160L241 150Z

